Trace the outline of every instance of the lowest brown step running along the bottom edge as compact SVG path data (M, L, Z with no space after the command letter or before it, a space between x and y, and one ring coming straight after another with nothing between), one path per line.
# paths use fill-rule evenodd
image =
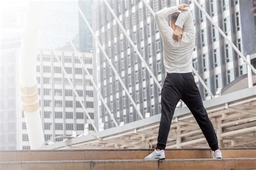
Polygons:
M256 169L256 158L0 162L1 170Z

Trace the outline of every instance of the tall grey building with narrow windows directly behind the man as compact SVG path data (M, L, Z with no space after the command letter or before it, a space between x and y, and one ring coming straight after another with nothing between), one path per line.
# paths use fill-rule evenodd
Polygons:
M140 1L108 1L114 13L116 13L125 30L137 45L138 50L150 66L160 84L163 84L165 70L163 64L163 43L159 35L156 22L149 9ZM188 3L194 16L197 39L193 52L193 66L199 72L206 85L213 94L230 84L235 78L247 73L246 64L237 53L232 50L231 44L221 37L201 11L188 1L148 1L153 11ZM212 16L226 35L232 39L239 50L247 54L255 53L255 32L253 18L253 1L208 1L202 0L200 4ZM96 23L93 25L96 35L102 43L112 64L122 77L127 89L145 117L160 113L160 91L153 82L144 64L138 59L132 46L127 41L124 33L120 30L116 19L103 2L95 3ZM246 19L241 19L241 18ZM246 20L246 21L244 21ZM247 28L246 23L251 23ZM243 24L244 23L244 24ZM248 32L247 32L248 31ZM248 34L251 35L248 36ZM97 49L97 44L95 44ZM94 50L98 59L99 86L101 93L110 106L114 118L120 122L130 123L139 119L138 114L131 105L124 90L120 86L109 64L104 59L103 53ZM210 99L210 94L204 90L198 78L194 77L203 99ZM100 106L100 123L104 128L113 127L113 121L107 115L103 105Z

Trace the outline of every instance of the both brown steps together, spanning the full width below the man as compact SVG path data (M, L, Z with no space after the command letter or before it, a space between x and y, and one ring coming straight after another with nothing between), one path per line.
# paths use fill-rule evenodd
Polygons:
M166 149L165 160L144 160L153 149L76 149L2 151L0 169L256 169L256 148L223 148L223 159L212 151Z

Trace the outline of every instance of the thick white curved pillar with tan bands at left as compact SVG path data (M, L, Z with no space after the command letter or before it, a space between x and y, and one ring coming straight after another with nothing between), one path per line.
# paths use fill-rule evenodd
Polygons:
M36 53L40 7L30 2L21 43L21 100L31 149L44 144L36 80Z

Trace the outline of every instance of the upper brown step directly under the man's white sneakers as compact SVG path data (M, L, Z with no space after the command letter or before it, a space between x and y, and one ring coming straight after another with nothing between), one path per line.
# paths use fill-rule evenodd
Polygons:
M144 159L153 149L83 149L0 151L0 162L4 161L54 161L54 160L131 160ZM223 158L256 158L256 148L222 148ZM208 148L166 149L166 159L212 158Z

